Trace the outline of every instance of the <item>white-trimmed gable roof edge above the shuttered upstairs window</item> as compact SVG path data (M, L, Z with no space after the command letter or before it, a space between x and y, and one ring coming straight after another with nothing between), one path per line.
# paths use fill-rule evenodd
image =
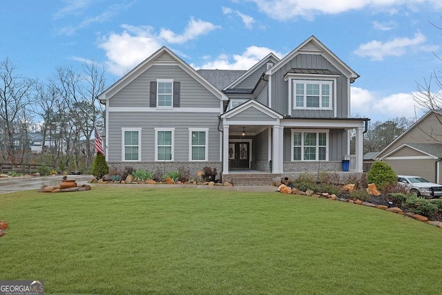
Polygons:
M189 66L189 64L187 64L186 61L182 60L180 57L175 55L175 53L173 53L166 46L163 46L155 53L153 53L153 55L151 55L147 59L144 59L144 61L142 61L137 66L135 66L135 68L133 68L129 73L124 75L117 82L109 86L100 95L98 95L98 99L100 100L100 102L109 99L110 97L115 95L115 93L122 90L122 88L127 86L134 79L142 75L142 73L144 73L148 68L153 66L155 62L159 62L161 64L176 64L177 66L180 66L180 68L182 68L195 80L200 82L200 84L202 84L202 86L204 86L205 88L207 88L207 90L213 93L213 95L218 97L220 100L227 100L227 96L224 95L224 93L222 93L218 88L216 88L213 84L211 84L204 77L202 77L202 75L200 75L194 68Z

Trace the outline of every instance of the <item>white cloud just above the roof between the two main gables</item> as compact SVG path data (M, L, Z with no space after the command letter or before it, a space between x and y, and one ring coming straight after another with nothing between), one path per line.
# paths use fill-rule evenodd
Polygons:
M220 55L214 61L209 61L206 64L195 68L217 68L218 70L248 70L254 66L258 61L273 53L278 57L281 57L281 53L275 53L273 50L267 47L250 46L242 55Z

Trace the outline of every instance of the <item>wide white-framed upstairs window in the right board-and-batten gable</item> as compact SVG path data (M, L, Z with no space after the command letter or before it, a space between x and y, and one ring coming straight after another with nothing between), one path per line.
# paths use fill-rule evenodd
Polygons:
M293 83L294 108L332 108L332 81L294 79Z

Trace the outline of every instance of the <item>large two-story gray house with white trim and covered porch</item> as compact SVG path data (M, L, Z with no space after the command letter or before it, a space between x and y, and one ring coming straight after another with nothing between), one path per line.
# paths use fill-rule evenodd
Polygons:
M106 104L106 160L155 171L211 166L238 173L363 171L367 118L350 117L358 74L311 36L249 70L195 70L162 47L98 99Z

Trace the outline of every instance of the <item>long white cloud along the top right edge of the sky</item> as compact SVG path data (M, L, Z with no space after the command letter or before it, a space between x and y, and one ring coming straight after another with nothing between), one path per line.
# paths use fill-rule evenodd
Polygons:
M396 10L398 7L417 9L419 6L441 8L440 0L249 0L269 17L287 20L294 17L313 19L315 15L336 15L350 10Z

